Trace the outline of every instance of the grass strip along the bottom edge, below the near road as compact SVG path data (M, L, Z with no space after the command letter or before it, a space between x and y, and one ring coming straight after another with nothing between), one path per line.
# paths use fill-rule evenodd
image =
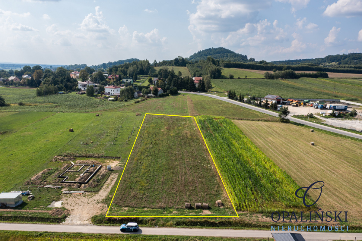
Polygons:
M265 238L0 231L0 241L264 241Z

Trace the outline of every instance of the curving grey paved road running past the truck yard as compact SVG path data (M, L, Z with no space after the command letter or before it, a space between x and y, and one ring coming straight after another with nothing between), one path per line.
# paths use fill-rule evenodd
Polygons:
M224 97L220 97L220 96L217 96L217 95L197 93L197 92L187 92L187 91L178 91L178 92L179 92L179 93L185 93L185 94L195 94L195 95L209 96L209 97L214 98L214 99L218 99L218 100L222 100L222 101L225 101L225 102L229 102L229 103L231 103L231 104L236 104L237 106L242 106L242 107L245 107L245 108L248 108L248 109L253 109L254 111L259 111L259 112L262 112L262 113L265 113L265 114L268 114L268 115L272 115L272 116L278 116L278 113L275 113L275 112L273 112L273 111L268 111L267 109L264 109L264 108L259 108L259 107L256 107L256 106L251 106L251 105L249 105L249 104L241 103L241 102L238 102L238 101L236 101L236 100L231 100L231 99L224 98ZM318 129L322 129L322 130L328 130L328 131L330 131L330 132L334 132L334 133L338 133L338 134L342 134L342 135L348 135L349 137L355 137L355 138L358 138L358 139L362 139L362 135L360 135L360 134L356 134L356 133L352 133L352 132L347 132L347 131L345 131L345 130L339 130L339 129L336 129L336 128L333 128L333 127L324 126L324 125L316 124L316 123L309 122L309 121L305 121L305 120L299 120L299 119L296 119L296 118L294 118L294 117L289 117L288 119L291 120L291 121L300 123L300 124L304 124L304 125L307 125L307 126L311 126L311 127L313 127L313 128L318 128Z

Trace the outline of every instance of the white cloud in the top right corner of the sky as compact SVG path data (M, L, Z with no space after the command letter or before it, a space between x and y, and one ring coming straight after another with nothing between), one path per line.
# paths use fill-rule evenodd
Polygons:
M329 17L354 17L362 15L361 0L338 0L337 3L328 5L324 16Z

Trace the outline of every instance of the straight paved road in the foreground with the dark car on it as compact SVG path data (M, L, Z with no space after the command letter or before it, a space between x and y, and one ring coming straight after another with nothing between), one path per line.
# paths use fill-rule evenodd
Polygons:
M38 231L38 232L68 232L68 233L121 233L119 227L110 226L76 226L51 224L15 224L0 223L1 230ZM286 232L286 231L285 231ZM125 232L132 233L132 232ZM140 228L138 234L181 235L181 236L213 236L213 237L271 237L270 231L261 230L232 230L232 229L197 229L197 228ZM273 233L282 233L273 231ZM293 232L301 233L306 241L327 240L362 240L362 233L322 233L322 232Z

